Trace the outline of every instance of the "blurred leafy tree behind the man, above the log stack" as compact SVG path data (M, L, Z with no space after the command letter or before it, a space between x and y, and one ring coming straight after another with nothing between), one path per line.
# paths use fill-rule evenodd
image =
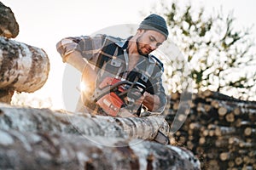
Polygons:
M212 9L209 15L205 8L191 4L161 1L151 12L166 16L172 39L167 47L174 42L182 52L172 56L166 65L172 91L182 91L190 75L195 91L210 89L240 99L255 99L252 28L238 30L232 13L224 15L221 9L217 12ZM173 55L172 50L165 48L166 53ZM184 70L187 67L189 73Z

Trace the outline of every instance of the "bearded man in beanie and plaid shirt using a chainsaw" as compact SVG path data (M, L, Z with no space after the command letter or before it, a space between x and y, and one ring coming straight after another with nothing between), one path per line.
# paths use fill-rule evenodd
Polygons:
M97 91L98 87L102 87L106 78L112 77L135 82L137 87L135 91L122 96L121 100L117 98L121 98L119 94L122 94L122 90L108 95L108 106L124 102L126 105L119 105L116 116L142 116L142 108L148 114L160 114L166 105L161 80L163 65L150 53L165 42L167 37L166 20L160 15L150 14L141 22L136 35L125 40L107 35L67 37L58 42L56 47L63 62L73 65L83 73L83 82L89 89L83 100L86 108L97 113L103 110L109 115L108 109L102 106L106 106L106 102L99 103L92 99L96 92L100 93ZM122 88L124 87L125 85ZM131 99L131 96L135 98ZM130 103L132 107L127 107Z

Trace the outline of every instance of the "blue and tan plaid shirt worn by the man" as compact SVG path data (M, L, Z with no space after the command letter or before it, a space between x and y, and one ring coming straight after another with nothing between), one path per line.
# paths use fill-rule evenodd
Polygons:
M102 34L95 37L67 37L58 42L56 48L63 62L67 61L67 54L79 51L90 64L96 65L95 71L101 75L96 84L102 82L105 77L142 82L146 86L146 92L159 96L160 107L152 112L160 114L166 105L166 94L161 79L163 65L159 59L149 54L140 57L133 70L127 71L128 60L125 58L125 50L130 38L121 39Z

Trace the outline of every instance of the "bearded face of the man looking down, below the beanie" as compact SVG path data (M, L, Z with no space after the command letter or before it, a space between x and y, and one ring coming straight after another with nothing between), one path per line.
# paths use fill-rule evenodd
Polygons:
M166 37L158 31L140 30L137 37L137 52L141 55L147 55L158 48Z

